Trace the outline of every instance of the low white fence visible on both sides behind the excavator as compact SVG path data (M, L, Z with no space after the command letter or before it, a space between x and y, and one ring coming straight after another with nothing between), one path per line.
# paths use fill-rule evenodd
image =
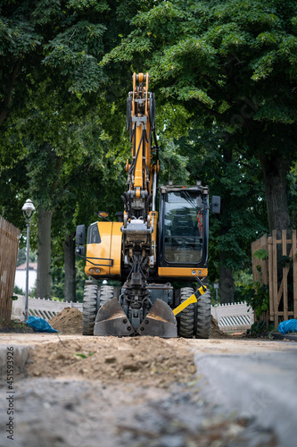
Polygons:
M22 319L24 308L25 298L19 295L19 299L12 302L12 318ZM45 320L50 320L63 308L78 308L82 312L82 303L29 298L29 315L41 316ZM253 311L246 303L211 306L211 315L224 332L249 329L254 321Z

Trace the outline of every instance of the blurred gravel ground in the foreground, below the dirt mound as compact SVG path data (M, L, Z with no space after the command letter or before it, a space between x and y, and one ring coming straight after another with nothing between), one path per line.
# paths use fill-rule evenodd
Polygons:
M105 385L99 381L38 378L17 382L13 442L17 447L268 447L272 432L255 420L226 414L203 401L199 379L169 389ZM5 387L1 387L1 408Z

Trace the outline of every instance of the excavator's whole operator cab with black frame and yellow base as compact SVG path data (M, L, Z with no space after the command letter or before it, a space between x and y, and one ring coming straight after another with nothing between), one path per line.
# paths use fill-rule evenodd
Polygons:
M159 266L176 277L184 276L185 268L197 275L207 267L208 192L198 185L161 187Z

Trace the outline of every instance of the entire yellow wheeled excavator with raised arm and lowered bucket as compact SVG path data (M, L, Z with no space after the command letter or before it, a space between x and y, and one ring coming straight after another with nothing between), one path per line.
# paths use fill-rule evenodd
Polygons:
M209 188L159 187L159 145L155 97L149 73L133 74L127 98L127 190L119 222L108 213L87 229L78 225L76 254L86 259L84 335L209 338L209 210L219 214L220 198L209 204ZM159 197L159 199L158 199ZM158 204L159 202L159 204ZM120 285L108 285L117 283ZM198 284L198 286L197 286Z

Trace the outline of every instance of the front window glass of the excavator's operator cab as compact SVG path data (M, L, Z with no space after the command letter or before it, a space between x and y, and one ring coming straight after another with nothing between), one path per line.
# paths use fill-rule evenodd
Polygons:
M204 204L198 190L169 190L162 195L163 263L197 265L203 257Z

